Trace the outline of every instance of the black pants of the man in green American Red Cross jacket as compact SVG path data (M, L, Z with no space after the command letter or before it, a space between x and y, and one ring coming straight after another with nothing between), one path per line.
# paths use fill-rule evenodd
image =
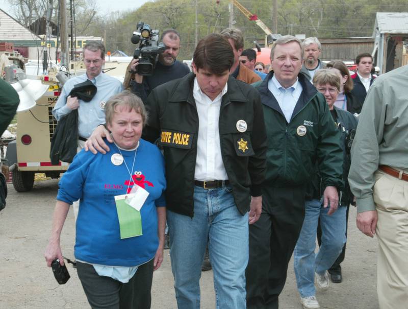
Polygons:
M260 219L249 226L248 309L278 308L304 219L304 188L265 186Z

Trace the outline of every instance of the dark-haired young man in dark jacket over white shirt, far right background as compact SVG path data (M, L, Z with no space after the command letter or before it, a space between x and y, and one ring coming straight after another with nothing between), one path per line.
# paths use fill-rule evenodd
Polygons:
M372 85L375 76L371 75L371 69L373 67L373 57L371 54L363 53L355 58L357 64L356 72L351 75L354 86L351 90L351 94L359 102L359 112L363 107L364 100L366 99L368 88Z

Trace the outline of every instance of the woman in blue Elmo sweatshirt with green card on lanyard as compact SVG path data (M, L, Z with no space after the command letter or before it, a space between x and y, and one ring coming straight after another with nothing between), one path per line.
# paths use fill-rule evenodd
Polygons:
M74 254L92 308L150 308L152 273L163 261L166 203L164 160L141 139L146 110L130 91L105 106L111 131L106 154L82 150L59 183L49 267L63 265L60 234L73 201L80 200Z

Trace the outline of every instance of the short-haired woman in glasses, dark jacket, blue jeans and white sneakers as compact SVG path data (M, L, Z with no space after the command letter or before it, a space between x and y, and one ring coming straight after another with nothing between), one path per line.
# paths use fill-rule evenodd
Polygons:
M341 89L340 74L333 69L320 69L313 77L313 84L326 99L328 109L341 134L345 187L339 195L339 207L331 213L329 207L323 207L324 188L321 187L321 177L317 168L309 185L308 196L311 196L312 199L305 203L305 217L293 253L297 289L304 308L320 308L316 299L315 277L316 287L321 291L327 290L329 285L327 270L333 265L346 243L346 209L353 200L347 182L350 169L350 148L347 147L347 141L350 132L357 127L356 117L335 106ZM321 246L315 255L316 230L319 220L322 230Z

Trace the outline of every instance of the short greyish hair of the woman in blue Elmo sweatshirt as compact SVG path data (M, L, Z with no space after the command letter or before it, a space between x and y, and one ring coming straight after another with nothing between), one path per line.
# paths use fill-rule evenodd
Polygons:
M133 94L129 90L124 90L108 100L105 105L105 119L107 124L112 124L112 119L116 112L116 106L127 106L129 107L129 111L134 109L142 116L143 127L146 125L147 111L142 99L136 96L136 94Z

